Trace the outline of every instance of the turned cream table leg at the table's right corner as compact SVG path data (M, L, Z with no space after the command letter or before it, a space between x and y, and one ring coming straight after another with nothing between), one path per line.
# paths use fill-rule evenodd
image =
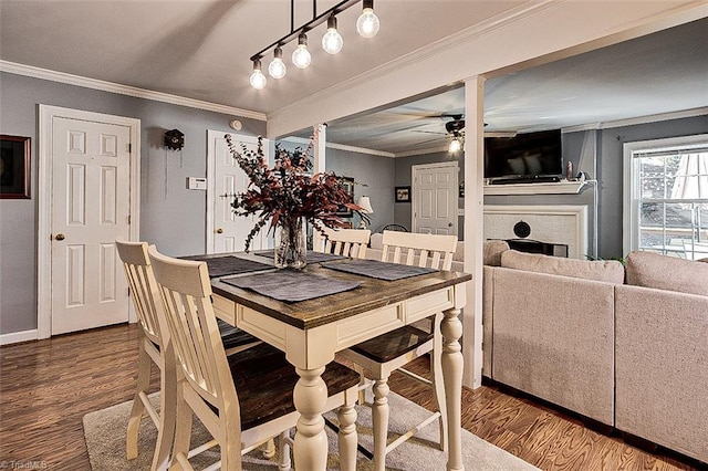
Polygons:
M448 427L448 471L464 471L462 464L462 354L459 338L462 335L462 323L458 318L460 310L444 312L440 322L442 334L442 379L445 381L445 407Z

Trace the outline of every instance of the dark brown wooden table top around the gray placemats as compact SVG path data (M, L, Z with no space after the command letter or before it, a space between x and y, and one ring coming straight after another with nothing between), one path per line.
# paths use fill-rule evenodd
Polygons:
M212 257L223 255L236 255L264 263L273 263L272 259L244 252L220 253ZM308 264L303 270L306 273L313 273L320 276L358 281L361 282L361 285L351 291L308 301L300 301L296 303L278 301L272 297L260 295L250 290L239 289L221 282L218 278L211 280L211 289L215 294L222 297L259 312L267 313L268 315L294 327L308 329L405 301L414 296L464 283L472 279L472 275L469 273L438 271L404 280L384 281L339 272L321 266L319 263ZM239 276L256 275L258 273L264 272L246 273Z

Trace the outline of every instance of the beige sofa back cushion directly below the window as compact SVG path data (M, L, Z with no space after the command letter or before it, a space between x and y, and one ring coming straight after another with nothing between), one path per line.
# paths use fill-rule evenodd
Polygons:
M662 255L631 252L627 255L627 284L708 296L708 264Z

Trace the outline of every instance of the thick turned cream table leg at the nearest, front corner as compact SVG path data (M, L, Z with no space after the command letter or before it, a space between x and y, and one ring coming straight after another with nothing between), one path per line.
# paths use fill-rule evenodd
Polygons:
M295 370L300 376L293 391L293 401L300 412L293 446L295 469L324 471L327 464L327 436L322 417L327 401L327 387L322 379L324 367Z

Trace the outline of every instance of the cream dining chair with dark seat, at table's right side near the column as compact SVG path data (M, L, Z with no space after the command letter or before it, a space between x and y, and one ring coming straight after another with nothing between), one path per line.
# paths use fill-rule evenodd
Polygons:
M436 270L450 270L456 247L457 236L384 231L382 261ZM441 316L441 313L437 313L425 320L426 322L424 323L405 325L354 345L340 355L341 358L347 359L355 365L355 368L362 374L362 384L365 383L364 370L368 371L374 379L372 420L374 429L374 469L377 471L385 469L387 453L408 440L423 427L435 421L435 419L438 419L440 428L440 449L445 450L447 448L447 418L445 414L441 414L445 408L445 390L439 368L442 338L440 335L435 335L436 326L439 325ZM403 368L403 366L428 353L433 354L430 358L433 380ZM394 370L399 370L413 379L434 387L438 407L435 414L396 440L387 443L389 415L387 399L388 377ZM360 401L363 404L361 397Z

